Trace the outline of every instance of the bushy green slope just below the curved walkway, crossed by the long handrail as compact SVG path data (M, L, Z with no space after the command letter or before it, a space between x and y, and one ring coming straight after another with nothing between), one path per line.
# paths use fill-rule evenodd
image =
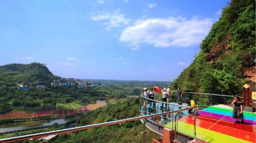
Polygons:
M124 118L139 116L139 99L128 99L122 103L108 104L105 107L88 112L77 121L77 126L103 123ZM101 127L96 132L96 142L142 142L143 126L140 121L127 122L121 125ZM147 130L147 141L160 136L151 130ZM54 142L93 142L93 129L62 135Z

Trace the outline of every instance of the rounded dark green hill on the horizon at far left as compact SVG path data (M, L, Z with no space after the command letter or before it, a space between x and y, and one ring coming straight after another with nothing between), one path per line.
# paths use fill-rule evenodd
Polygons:
M42 63L31 64L7 64L0 66L0 86L15 86L17 83L23 85L50 85L54 76Z

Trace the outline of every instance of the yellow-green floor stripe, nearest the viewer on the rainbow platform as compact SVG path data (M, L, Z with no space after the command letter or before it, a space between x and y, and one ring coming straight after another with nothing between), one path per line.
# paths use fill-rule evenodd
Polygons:
M172 129L172 123L166 124L164 125L165 127ZM189 135L191 137L194 137L194 126L184 123L184 122L178 122L178 131L180 133ZM215 131L211 131L211 130L206 130L204 128L201 127L196 127L196 132L197 132L197 138L205 140L207 142L211 142L211 143L219 143L219 142L249 142L247 140L243 140L240 138L236 138L233 136L229 136L229 135L225 135L222 133L218 133Z

